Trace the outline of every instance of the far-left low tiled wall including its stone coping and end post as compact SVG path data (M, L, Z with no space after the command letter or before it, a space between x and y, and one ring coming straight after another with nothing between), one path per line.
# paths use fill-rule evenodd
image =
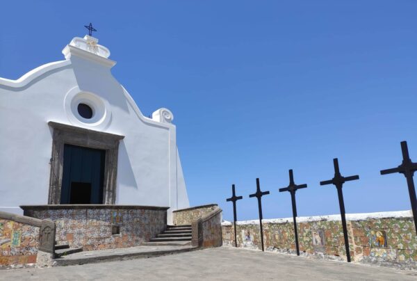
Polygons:
M0 266L35 265L39 253L50 262L54 232L51 222L0 211Z

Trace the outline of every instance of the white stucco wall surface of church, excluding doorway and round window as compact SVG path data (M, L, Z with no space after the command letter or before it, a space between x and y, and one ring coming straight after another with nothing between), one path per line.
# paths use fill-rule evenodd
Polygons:
M106 48L92 54L82 44L72 45L64 50L65 61L42 65L16 81L0 78L0 210L20 213L21 204L47 204L49 121L124 136L116 204L189 207L170 111L146 118L111 74L115 62ZM81 122L69 106L84 92L99 97L106 109L96 124Z

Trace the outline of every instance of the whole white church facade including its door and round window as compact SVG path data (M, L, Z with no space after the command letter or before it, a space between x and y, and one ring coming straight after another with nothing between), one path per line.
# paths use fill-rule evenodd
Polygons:
M147 118L85 35L65 61L0 78L0 211L24 204L189 207L167 109Z

